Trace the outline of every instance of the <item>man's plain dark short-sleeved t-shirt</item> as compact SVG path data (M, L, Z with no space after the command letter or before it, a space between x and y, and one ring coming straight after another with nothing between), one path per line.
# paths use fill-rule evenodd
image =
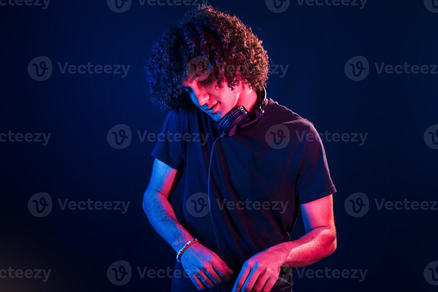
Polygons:
M166 136L161 135L152 156L183 172L181 224L234 271L221 290L231 291L245 260L290 241L300 204L336 189L313 124L269 99L262 120L215 144L209 211L208 165L217 124L196 107L170 111L162 128ZM179 263L175 268L183 270ZM285 271L287 281L272 291L291 291L291 274ZM172 291L198 290L190 279L175 277Z

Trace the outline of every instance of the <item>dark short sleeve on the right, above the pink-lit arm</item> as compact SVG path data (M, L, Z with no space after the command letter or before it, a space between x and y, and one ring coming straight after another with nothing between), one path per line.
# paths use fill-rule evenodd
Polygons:
M296 180L300 204L336 193L321 137L313 126L309 127L310 131L304 139L305 144Z

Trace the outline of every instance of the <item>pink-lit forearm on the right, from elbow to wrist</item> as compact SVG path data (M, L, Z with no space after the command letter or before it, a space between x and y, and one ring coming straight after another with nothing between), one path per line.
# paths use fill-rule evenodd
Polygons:
M300 239L280 243L266 250L277 254L289 267L306 267L336 250L336 231L329 227L312 229Z

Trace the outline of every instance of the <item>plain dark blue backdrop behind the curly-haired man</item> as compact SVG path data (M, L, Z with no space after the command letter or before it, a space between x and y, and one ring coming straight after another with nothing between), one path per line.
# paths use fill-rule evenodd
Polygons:
M438 123L438 75L378 74L374 62L437 64L438 14L423 1L367 1L351 6L300 6L283 13L265 1L211 0L237 14L263 40L273 64L268 97L314 122L320 132L368 133L358 143L324 142L332 179L338 249L311 269L368 269L358 279L298 278L294 291L435 291L424 267L438 260L438 211L379 211L386 201L437 199L438 150L424 131ZM52 269L49 280L0 279L1 291L168 291L170 279L140 278L136 267L173 268L174 251L152 229L141 208L153 158L137 130L159 133L166 116L153 106L145 81L148 52L187 6L140 6L124 13L106 1L52 0L47 9L0 6L0 132L52 133L49 143L2 142L0 269ZM48 56L53 74L33 80L28 63ZM365 56L370 74L352 81L344 65ZM128 75L61 74L57 62L131 65ZM127 124L132 142L111 147L108 130ZM36 218L29 198L46 192L53 211ZM347 214L352 193L370 198L360 218ZM57 199L131 201L120 211L60 210ZM177 196L175 196L177 199ZM176 204L174 201L173 203ZM304 234L298 222L293 238ZM111 284L117 260L133 268L131 281Z

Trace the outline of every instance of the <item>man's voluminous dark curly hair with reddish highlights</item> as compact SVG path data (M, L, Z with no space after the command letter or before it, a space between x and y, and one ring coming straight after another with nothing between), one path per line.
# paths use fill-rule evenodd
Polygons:
M214 74L216 87L220 88L224 76L232 90L241 81L257 91L266 86L268 53L251 27L237 16L201 5L187 11L152 49L146 68L155 105L162 109L188 105L190 99L181 77L187 80L187 63L195 57L208 60L206 69Z

